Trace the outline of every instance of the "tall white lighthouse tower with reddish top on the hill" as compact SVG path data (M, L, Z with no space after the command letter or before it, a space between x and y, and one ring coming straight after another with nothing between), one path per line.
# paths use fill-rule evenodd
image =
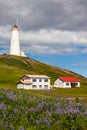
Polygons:
M17 25L11 28L10 55L20 56L19 27Z

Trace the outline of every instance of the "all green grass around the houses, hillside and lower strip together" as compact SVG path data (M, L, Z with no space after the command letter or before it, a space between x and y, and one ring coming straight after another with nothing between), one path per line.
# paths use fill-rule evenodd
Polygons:
M16 89L16 84L25 74L42 74L51 78L51 84L58 76L76 76L81 81L80 88L53 89L50 91L30 91L40 96L53 97L87 97L87 79L81 75L60 68L50 66L31 58L15 57L9 55L0 56L0 87ZM24 91L24 90L23 90Z

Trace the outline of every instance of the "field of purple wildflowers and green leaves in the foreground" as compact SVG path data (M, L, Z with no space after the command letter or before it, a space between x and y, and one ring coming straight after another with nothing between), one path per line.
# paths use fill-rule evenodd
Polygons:
M87 130L87 103L0 88L0 130Z

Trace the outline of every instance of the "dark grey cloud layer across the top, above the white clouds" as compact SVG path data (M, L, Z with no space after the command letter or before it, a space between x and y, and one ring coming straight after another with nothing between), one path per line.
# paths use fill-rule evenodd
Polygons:
M86 7L86 0L0 1L0 23L14 24L19 15L24 30L87 30Z

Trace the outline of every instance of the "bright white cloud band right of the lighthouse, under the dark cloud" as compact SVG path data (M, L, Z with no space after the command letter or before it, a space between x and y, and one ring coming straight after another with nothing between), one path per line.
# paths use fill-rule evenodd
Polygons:
M47 44L75 44L87 46L87 32L45 30L21 32L21 40Z

